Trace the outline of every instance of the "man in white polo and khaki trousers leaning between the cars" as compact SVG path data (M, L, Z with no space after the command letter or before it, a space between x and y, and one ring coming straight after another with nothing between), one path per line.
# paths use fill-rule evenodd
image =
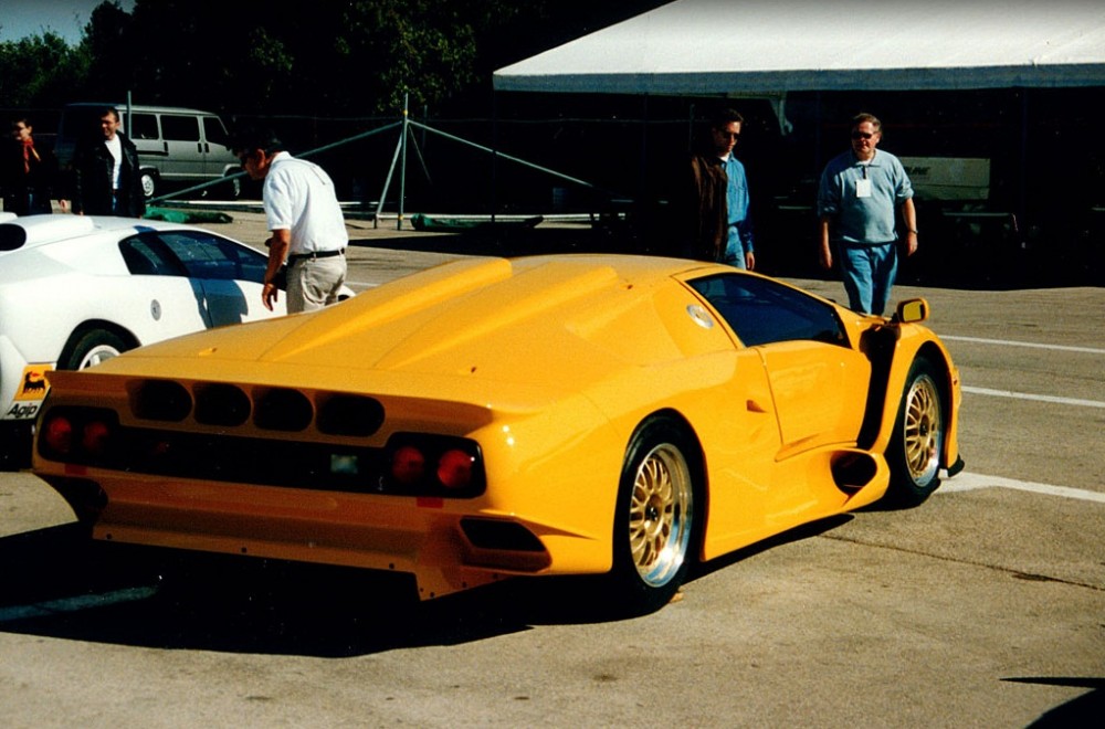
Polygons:
M287 311L311 311L338 300L345 284L349 243L334 181L314 162L283 149L271 133L239 138L235 154L254 180L263 180L269 230L269 268L262 300L277 300L281 266L287 261Z

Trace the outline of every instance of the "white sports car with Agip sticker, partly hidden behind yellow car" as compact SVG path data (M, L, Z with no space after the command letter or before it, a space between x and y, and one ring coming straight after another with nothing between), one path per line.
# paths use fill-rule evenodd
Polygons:
M0 466L29 461L48 370L283 315L261 303L266 262L187 224L0 213Z

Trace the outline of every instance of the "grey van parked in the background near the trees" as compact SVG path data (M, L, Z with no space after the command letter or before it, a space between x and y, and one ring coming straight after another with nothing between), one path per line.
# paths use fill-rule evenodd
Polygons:
M230 134L219 115L173 106L126 104L67 104L57 124L54 154L62 169L73 160L76 140L99 134L99 114L114 106L119 112L123 133L138 148L141 188L146 199L161 192L166 183L198 184L236 175L242 168L230 149ZM231 199L241 192L241 178L217 187L218 194Z

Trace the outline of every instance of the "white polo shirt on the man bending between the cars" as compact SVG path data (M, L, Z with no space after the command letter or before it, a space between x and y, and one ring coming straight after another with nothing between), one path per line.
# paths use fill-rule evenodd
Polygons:
M340 251L349 243L334 181L318 165L277 152L262 198L269 230L291 231L290 255Z

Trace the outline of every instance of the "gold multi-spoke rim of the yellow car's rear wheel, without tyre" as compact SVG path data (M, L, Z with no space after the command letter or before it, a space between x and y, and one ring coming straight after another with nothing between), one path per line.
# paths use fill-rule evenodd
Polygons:
M657 445L636 471L629 514L630 553L646 584L664 585L683 566L692 506L686 459L674 445Z

